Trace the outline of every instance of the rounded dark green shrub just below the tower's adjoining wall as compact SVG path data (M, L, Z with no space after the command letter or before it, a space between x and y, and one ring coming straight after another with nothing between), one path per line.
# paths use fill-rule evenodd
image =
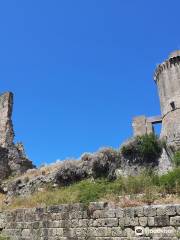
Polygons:
M162 144L155 134L137 136L121 149L124 157L140 162L156 162L162 153Z

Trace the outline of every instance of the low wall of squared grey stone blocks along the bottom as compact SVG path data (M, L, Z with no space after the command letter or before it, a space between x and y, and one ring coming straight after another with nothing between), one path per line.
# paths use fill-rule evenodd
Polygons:
M177 240L180 205L122 209L100 202L18 209L0 214L0 229L12 240Z

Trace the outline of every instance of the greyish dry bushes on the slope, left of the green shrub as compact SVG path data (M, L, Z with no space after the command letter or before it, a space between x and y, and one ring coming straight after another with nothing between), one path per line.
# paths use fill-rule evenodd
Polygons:
M115 170L120 165L120 152L104 148L94 154L84 154L80 160L64 161L55 175L55 183L66 186L85 178L115 179Z

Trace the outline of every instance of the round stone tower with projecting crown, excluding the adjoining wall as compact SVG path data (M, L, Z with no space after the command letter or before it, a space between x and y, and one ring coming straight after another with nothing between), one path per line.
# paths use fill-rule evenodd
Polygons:
M161 137L169 146L180 148L180 50L158 65L155 75L158 86L162 130Z

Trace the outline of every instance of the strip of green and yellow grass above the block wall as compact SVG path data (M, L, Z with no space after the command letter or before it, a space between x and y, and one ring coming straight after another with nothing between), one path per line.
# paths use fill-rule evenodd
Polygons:
M44 207L77 202L88 205L89 202L102 200L118 202L125 207L163 202L179 203L179 196L180 168L177 168L163 176L148 172L139 176L121 177L115 181L86 179L58 189L48 186L31 196L14 198L8 208Z

